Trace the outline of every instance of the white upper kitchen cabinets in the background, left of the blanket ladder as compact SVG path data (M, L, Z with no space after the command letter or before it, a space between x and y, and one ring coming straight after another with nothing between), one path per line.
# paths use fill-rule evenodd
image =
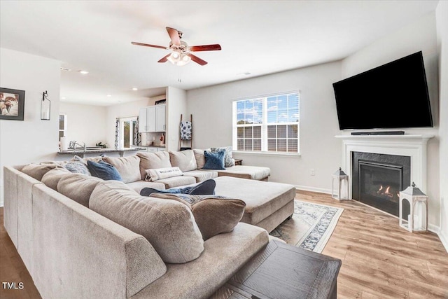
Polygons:
M139 132L165 132L165 105L148 106L139 110Z

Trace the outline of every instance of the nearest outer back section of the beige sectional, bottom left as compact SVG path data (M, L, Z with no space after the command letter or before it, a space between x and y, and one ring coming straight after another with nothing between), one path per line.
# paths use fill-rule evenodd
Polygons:
M43 298L128 298L166 272L141 235L33 187L34 282Z

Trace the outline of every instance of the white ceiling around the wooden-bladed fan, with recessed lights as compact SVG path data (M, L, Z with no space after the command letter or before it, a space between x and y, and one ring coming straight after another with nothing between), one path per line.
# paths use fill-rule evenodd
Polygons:
M341 60L438 1L0 1L0 46L62 62L61 101L109 106ZM165 27L209 64L158 63ZM82 75L78 71L87 70ZM138 88L133 91L132 88ZM108 96L109 95L109 96Z

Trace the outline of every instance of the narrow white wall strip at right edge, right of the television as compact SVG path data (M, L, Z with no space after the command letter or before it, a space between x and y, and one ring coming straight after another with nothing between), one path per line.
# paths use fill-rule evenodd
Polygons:
M440 239L448 251L448 1L436 9L440 97Z

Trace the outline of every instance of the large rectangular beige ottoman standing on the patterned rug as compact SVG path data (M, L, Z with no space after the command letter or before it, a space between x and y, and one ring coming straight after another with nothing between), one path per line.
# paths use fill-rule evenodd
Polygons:
M271 232L294 213L295 187L286 183L219 176L215 193L246 202L241 222L257 225Z

